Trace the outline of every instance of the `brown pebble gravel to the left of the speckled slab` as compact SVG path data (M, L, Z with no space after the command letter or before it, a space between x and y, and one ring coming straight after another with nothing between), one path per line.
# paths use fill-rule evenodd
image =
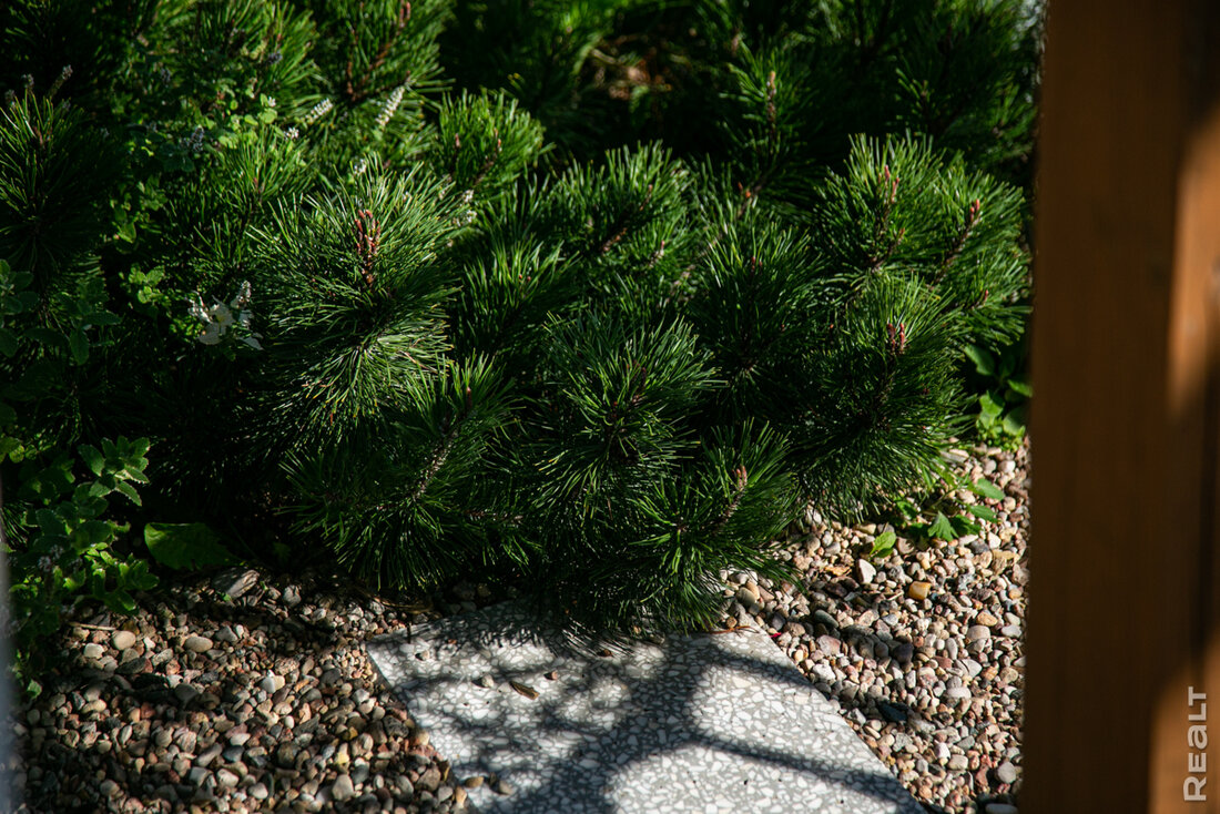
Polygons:
M318 585L234 569L70 625L16 722L20 810L465 809L484 779L451 776L362 646L439 614ZM494 599L458 591L451 613Z

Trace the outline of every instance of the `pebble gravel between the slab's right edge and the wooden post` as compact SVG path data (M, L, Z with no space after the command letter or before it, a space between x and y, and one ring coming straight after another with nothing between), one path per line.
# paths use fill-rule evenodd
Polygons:
M816 511L784 556L805 596L728 576L723 625L758 624L903 785L933 812L1014 814L1021 783L1028 445L954 455L956 471L1000 487L961 491L997 522L977 536L915 543L865 559L889 526L843 527ZM902 532L899 531L899 535Z

